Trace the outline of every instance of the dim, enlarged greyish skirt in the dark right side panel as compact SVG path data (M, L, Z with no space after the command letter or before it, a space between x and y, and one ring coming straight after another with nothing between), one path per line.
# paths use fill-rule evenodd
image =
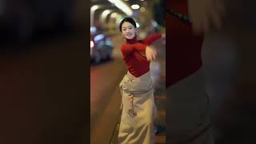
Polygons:
M203 70L167 87L166 96L166 143L213 144Z

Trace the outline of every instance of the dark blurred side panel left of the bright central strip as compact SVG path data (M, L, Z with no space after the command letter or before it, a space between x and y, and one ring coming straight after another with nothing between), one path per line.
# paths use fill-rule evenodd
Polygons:
M89 9L84 0L0 1L0 143L89 135Z

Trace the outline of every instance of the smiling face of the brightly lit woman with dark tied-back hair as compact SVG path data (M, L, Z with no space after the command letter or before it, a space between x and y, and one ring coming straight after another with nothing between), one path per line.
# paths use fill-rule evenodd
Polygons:
M130 22L122 23L122 35L126 39L132 39L136 35L137 29Z

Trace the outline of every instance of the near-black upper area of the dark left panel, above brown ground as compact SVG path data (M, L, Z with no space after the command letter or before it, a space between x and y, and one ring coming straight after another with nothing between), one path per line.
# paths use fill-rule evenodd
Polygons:
M82 0L1 0L2 44L27 44L85 28Z

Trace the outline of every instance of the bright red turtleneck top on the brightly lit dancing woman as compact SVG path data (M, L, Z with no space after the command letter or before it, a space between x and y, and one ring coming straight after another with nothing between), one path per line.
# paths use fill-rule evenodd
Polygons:
M122 56L130 74L138 78L150 70L150 62L142 54L146 54L146 46L150 46L155 40L161 38L162 34L151 34L149 37L138 41L136 37L126 39L122 44Z

